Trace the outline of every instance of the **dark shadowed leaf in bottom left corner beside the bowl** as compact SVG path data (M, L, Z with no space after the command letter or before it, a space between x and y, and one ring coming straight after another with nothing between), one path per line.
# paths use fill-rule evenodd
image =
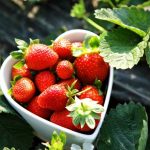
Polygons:
M15 147L27 150L32 146L31 127L0 97L0 149Z

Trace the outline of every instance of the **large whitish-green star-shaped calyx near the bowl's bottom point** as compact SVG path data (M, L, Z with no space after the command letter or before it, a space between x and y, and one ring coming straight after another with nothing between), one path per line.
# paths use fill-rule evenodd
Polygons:
M94 129L96 126L95 119L100 119L100 113L104 111L104 107L97 104L90 98L80 100L75 97L75 102L66 107L70 111L69 117L72 117L75 126L80 125L81 128L86 124L89 128Z

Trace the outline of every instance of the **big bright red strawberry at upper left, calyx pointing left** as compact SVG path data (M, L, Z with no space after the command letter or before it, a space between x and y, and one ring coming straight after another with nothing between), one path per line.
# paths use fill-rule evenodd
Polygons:
M25 61L30 69L43 70L56 64L58 55L44 44L31 44L26 51Z

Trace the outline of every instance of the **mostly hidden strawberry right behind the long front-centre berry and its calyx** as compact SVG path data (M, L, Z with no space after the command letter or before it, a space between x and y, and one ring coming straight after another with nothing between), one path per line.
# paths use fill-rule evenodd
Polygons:
M67 88L68 86L71 86L72 83L75 82L75 81L76 81L76 83L75 83L74 88L80 90L81 84L80 84L80 81L76 78L71 78L71 79L68 79L68 80L62 80L58 84L63 85Z

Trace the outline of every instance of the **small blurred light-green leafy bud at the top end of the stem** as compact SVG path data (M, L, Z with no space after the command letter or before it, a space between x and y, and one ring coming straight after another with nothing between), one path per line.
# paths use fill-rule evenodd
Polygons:
M73 6L70 13L72 17L76 17L79 19L84 18L85 14L86 14L86 9L85 9L84 0L80 0L79 3L76 3Z

